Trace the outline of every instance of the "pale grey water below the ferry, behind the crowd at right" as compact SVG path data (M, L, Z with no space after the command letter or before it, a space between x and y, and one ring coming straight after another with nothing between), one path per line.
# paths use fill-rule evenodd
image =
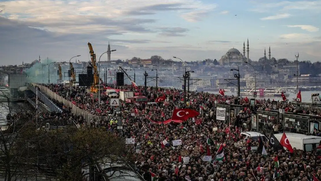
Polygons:
M209 92L209 93L213 93L213 94L218 94L218 92ZM301 91L301 97L302 97L302 102L303 103L312 103L312 99L311 99L311 94L316 94L316 93L321 93L318 91ZM294 98L297 97L296 93L291 93L291 92L286 92L286 94L289 94L289 96L287 96L286 98L289 99L290 101L293 101ZM225 95L237 95L237 93L231 93L231 92L225 92ZM246 97L246 96L242 96L242 97ZM248 99L253 98L253 96L247 96ZM270 99L270 100L275 100L275 101L282 101L282 97L272 97L272 96L268 96L268 97L260 97L257 96L256 99Z

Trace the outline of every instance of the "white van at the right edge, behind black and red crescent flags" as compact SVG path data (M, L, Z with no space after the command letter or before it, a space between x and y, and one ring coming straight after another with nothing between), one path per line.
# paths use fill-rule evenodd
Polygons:
M286 137L290 141L292 148L300 149L303 151L312 151L319 146L321 137L304 135L299 133L285 133ZM283 133L274 134L275 138L279 141L282 138Z

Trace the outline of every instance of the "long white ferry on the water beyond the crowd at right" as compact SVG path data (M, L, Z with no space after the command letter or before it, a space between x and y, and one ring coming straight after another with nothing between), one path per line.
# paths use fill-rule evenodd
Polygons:
M245 89L243 92L241 92L241 95L245 96L253 96L254 89ZM282 88L259 88L256 89L257 96L260 97L281 97L281 94L283 94L287 97L289 94L286 94L286 90L283 90Z

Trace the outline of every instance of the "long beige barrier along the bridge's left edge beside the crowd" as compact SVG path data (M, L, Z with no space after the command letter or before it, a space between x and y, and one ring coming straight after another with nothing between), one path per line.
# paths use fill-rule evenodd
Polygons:
M56 101L63 103L65 106L70 107L71 108L71 112L76 114L76 115L82 115L84 117L84 119L86 120L87 123L90 123L91 119L95 119L95 120L100 120L100 119L104 119L104 120L108 120L108 116L96 116L93 115L85 110L80 109L79 107L77 107L76 105L74 105L72 102L66 100L65 98L61 97L60 95L56 94L55 92L53 92L52 90L50 90L48 87L46 86L42 86L39 84L35 84L32 83L31 85L33 86L38 86L40 91L42 91L43 93L45 93L46 95L48 95L50 98L55 99Z

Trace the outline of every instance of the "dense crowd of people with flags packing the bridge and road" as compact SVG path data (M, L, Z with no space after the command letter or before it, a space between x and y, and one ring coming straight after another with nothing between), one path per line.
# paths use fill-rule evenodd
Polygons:
M46 85L56 94L73 102L83 110L99 116L112 112L108 97L101 95L101 102L84 88L70 88L64 85ZM132 86L112 87L121 90L134 90ZM137 89L137 88L136 88ZM143 87L138 87L141 92ZM137 90L135 90L137 92ZM215 103L226 104L234 101L234 96L222 96L204 92L192 92L186 108L197 110L201 114L182 123L171 122L160 124L171 118L173 110L185 108L182 103L183 93L176 89L156 90L148 88L146 97L155 102L159 96L166 100L155 104L122 104L121 117L123 131L117 131L116 122L112 120L83 121L81 116L69 112L65 116L53 115L63 121L75 120L79 126L105 127L125 138L134 138L134 155L137 171L146 181L316 181L321 179L321 160L313 152L290 153L288 150L274 150L264 143L267 155L262 155L253 147L259 145L258 140L246 140L241 131L250 131L241 125L229 125L225 121L216 120ZM271 100L256 100L255 110L271 110ZM59 103L56 103L59 104ZM237 119L250 117L248 100L241 100L243 111ZM60 105L64 110L68 108ZM279 101L279 108L296 113L296 106L287 101ZM300 110L302 112L302 110ZM304 113L319 115L313 108L303 110ZM317 130L318 131L318 130ZM269 135L266 135L267 137ZM173 146L173 140L181 140L181 144ZM224 159L216 159L219 146L224 147ZM131 145L132 146L132 145ZM204 160L204 156L212 159Z

